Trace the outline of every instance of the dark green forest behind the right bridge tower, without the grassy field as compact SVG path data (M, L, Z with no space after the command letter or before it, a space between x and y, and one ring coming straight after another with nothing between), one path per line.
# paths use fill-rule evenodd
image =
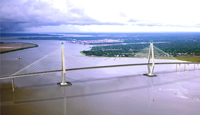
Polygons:
M166 43L154 43L154 46L168 53L173 57L178 56L200 56L200 42L196 41L172 41ZM148 48L148 43L121 44L93 46L89 51L82 51L88 56L106 56L106 57L135 57L136 53L144 48Z

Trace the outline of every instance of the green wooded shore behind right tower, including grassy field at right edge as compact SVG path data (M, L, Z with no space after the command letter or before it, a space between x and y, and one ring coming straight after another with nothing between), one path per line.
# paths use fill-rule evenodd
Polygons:
M155 58L169 59L175 57L182 61L200 62L200 42L173 41L167 43L155 43L156 49L163 51L155 54ZM121 44L108 46L93 46L89 51L82 51L86 56L101 57L144 57L148 53L149 44ZM143 49L146 48L146 51ZM154 48L155 50L155 48ZM140 54L140 56L138 55Z

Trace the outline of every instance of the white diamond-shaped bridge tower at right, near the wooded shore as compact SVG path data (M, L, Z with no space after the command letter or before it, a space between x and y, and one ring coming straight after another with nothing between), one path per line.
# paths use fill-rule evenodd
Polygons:
M143 74L143 75L148 76L148 77L155 77L157 75L153 74L155 63L154 63L154 49L153 49L153 42L152 41L150 42L149 55L148 55L148 64L150 64L150 59L151 58L152 58L152 65L147 65L148 74ZM151 69L150 69L150 66L152 66Z

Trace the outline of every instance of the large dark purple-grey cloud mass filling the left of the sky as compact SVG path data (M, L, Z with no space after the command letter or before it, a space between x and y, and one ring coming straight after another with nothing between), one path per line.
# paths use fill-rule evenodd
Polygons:
M56 0L2 0L1 31L25 31L30 27L60 25L121 25L121 23L99 22L86 15L83 8ZM57 6L55 4L58 4Z

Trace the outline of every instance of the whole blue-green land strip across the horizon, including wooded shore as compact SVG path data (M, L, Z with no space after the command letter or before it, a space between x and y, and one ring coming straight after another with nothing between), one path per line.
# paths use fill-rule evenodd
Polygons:
M1 33L3 40L65 40L71 43L92 45L82 51L86 56L137 57L137 53L154 46L168 54L157 57L176 57L185 61L200 62L200 32L146 32L146 33Z

